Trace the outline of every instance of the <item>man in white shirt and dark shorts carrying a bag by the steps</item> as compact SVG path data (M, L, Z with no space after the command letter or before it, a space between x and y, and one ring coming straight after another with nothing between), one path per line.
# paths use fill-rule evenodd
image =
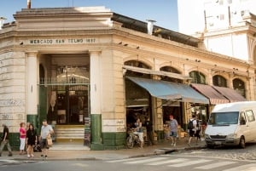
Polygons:
M47 158L47 152L49 147L47 146L47 138L50 134L54 134L53 128L47 123L46 119L43 120L43 125L41 128L41 135L40 135L40 146L42 148L42 155L41 157Z

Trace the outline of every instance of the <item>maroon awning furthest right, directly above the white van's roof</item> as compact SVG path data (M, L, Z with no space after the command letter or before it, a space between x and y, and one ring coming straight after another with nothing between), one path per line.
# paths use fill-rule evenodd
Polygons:
M235 89L218 86L212 87L216 89L220 94L224 95L224 97L230 100L230 102L246 101L246 99L241 94L238 94Z

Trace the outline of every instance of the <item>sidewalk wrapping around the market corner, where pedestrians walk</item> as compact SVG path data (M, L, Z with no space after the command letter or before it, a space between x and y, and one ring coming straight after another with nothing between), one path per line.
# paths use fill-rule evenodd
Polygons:
M193 142L191 143L191 146L189 146L187 144L187 138L177 140L177 145L175 147L171 146L171 142L171 140L165 140L163 142L159 142L158 145L144 145L142 149L135 146L132 149L105 151L90 151L90 149L81 150L79 148L73 148L76 150L67 150L65 147L63 147L61 150L54 150L58 148L52 147L52 149L49 149L47 160L109 160L129 157L147 157L166 154L173 151L196 150L206 146L205 141L200 141L197 145L195 145L195 142ZM83 149L83 147L81 148ZM43 160L40 158L41 152L35 152L34 155L35 157L33 158L27 158L26 155L20 156L19 151L13 151L13 157L7 157L8 151L3 151L0 160Z

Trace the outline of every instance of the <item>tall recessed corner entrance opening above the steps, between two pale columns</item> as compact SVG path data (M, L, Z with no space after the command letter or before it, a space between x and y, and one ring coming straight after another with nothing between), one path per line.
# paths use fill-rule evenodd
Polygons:
M90 56L42 54L40 60L41 118L50 124L84 124L90 115Z

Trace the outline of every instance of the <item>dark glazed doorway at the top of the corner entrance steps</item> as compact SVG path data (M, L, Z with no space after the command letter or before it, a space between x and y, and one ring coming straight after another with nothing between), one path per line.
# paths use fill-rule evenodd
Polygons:
M56 101L54 111L49 106L47 118L57 124L84 124L89 117L89 85L54 86L51 94Z

